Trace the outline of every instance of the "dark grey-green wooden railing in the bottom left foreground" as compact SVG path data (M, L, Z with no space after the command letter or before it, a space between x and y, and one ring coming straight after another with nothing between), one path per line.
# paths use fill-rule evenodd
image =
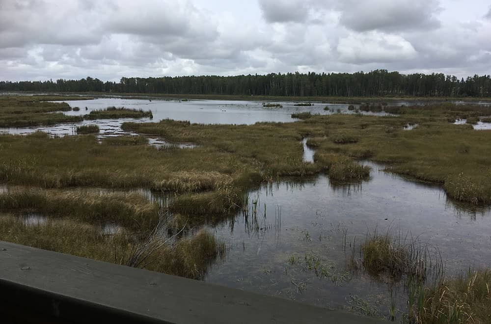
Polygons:
M381 322L1 241L0 313L31 323Z

